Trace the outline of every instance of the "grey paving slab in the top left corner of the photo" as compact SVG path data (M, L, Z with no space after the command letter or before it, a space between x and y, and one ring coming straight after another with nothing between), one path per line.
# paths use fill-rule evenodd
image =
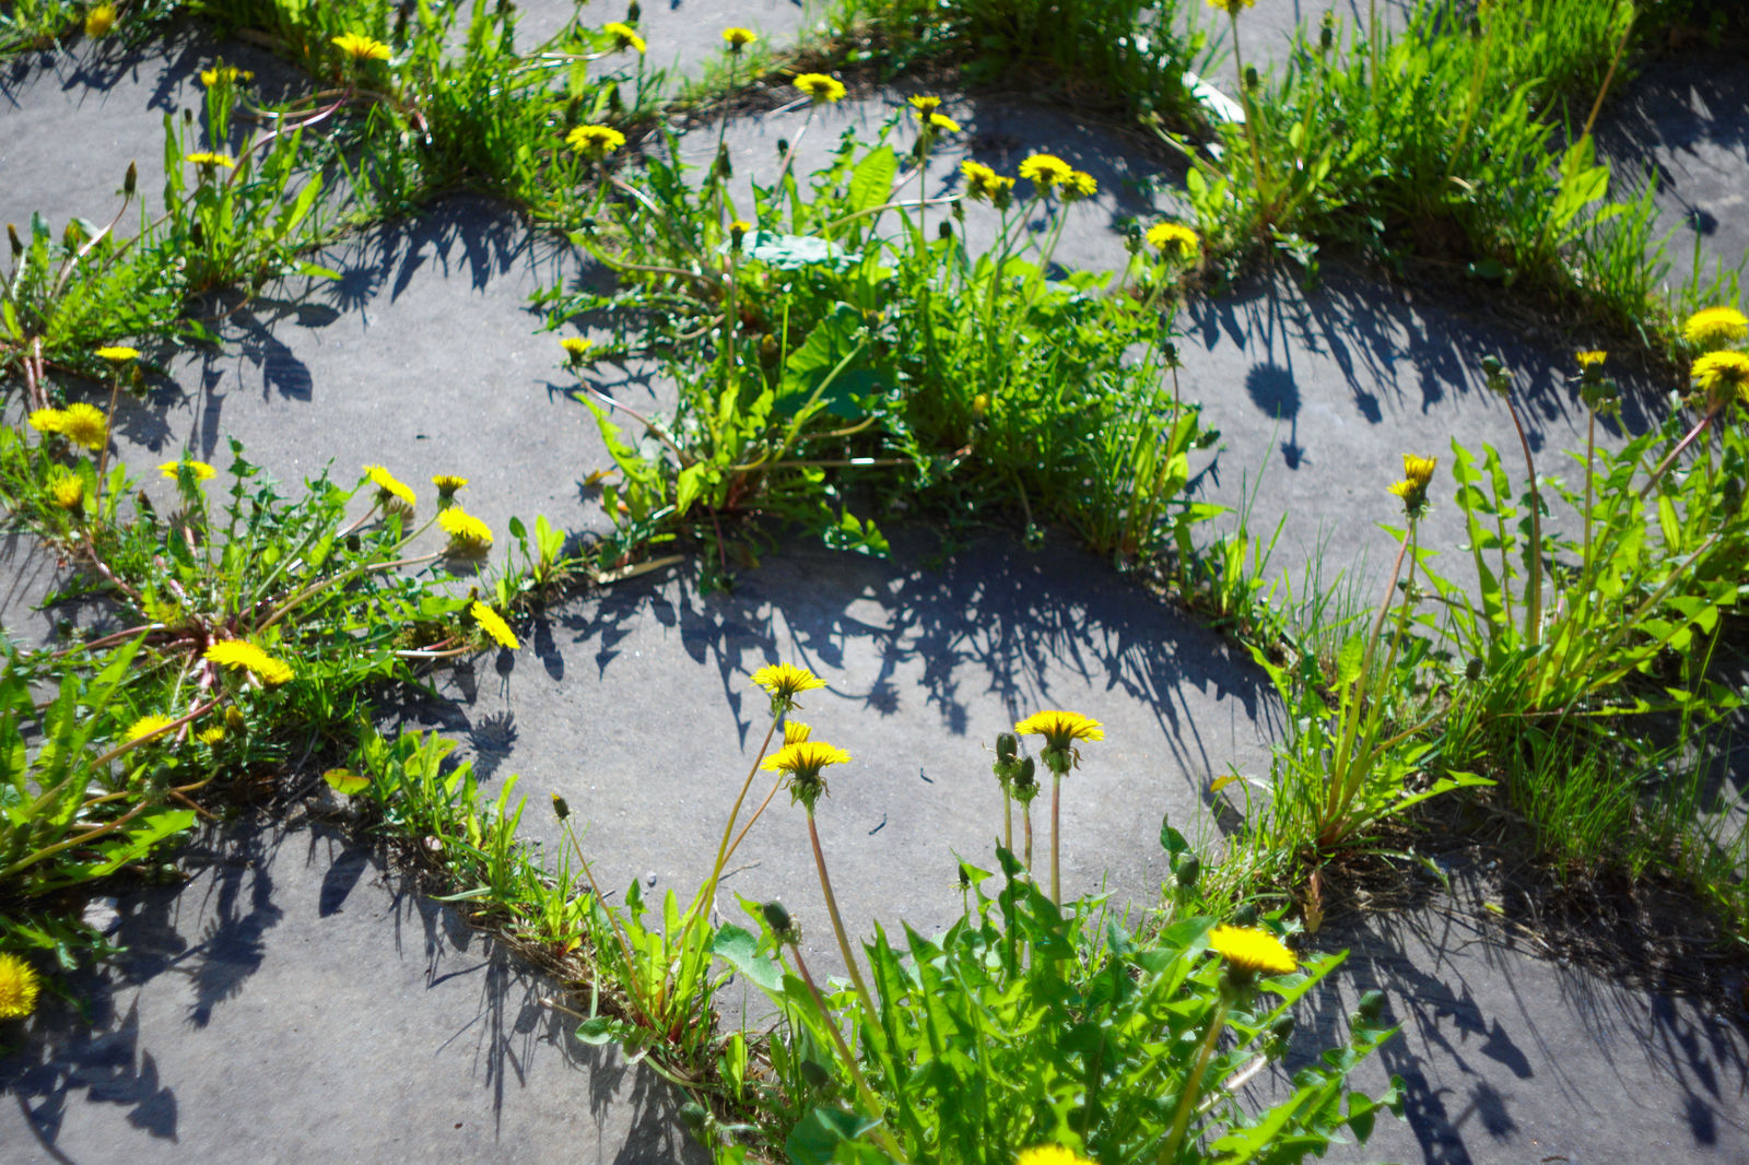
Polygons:
M72 217L107 224L121 210L128 163L138 163L140 201L115 227L121 236L138 233L142 205L150 217L164 210L164 115L192 110L205 119L199 72L219 56L255 73L261 100L308 87L273 54L215 42L194 26L135 51L82 40L0 66L0 220L28 233L31 212L42 212L56 236ZM234 152L247 136L248 124L233 115L227 142L203 143Z

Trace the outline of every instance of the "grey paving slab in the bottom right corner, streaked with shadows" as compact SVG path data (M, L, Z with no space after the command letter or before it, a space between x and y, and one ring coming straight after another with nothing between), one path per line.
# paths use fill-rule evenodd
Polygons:
M1497 904L1495 904L1497 910ZM1343 1039L1361 992L1385 992L1403 1034L1354 1076L1406 1085L1406 1120L1382 1116L1336 1162L1749 1160L1749 1032L1693 1002L1620 987L1532 953L1473 892L1320 932L1348 948L1303 1046ZM1529 934L1518 927L1513 932ZM1534 941L1534 939L1532 939ZM1320 1043L1322 1041L1322 1043Z

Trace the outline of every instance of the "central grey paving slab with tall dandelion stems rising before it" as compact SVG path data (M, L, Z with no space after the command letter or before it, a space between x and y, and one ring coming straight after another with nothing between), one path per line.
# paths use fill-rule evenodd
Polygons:
M785 548L729 595L640 581L525 630L525 647L479 673L439 677L453 700L415 708L463 740L490 775L519 773L523 829L551 841L547 792L589 822L603 889L644 878L645 897L689 901L770 724L749 680L775 661L827 689L798 719L855 761L827 771L817 819L847 925L904 918L925 934L958 910L955 859L993 868L1002 803L995 736L1041 708L1105 724L1063 785L1063 894L1111 889L1151 904L1165 875L1160 820L1210 836L1202 791L1228 764L1266 770L1277 724L1242 651L1118 579L1077 549L1000 539L920 567L932 539L901 535L894 562ZM490 672L486 668L491 668ZM754 778L754 805L771 777ZM1048 796L1034 805L1048 869ZM1016 847L1021 827L1014 824ZM841 966L820 908L799 808L778 796L731 862L735 894L780 897L808 957ZM1044 875L1041 875L1044 876Z

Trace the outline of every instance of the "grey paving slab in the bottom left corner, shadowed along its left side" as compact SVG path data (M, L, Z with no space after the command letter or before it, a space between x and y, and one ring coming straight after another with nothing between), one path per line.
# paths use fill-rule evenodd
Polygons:
M0 1162L705 1160L672 1088L366 852L238 827L187 861L94 908L128 953L0 1060Z

